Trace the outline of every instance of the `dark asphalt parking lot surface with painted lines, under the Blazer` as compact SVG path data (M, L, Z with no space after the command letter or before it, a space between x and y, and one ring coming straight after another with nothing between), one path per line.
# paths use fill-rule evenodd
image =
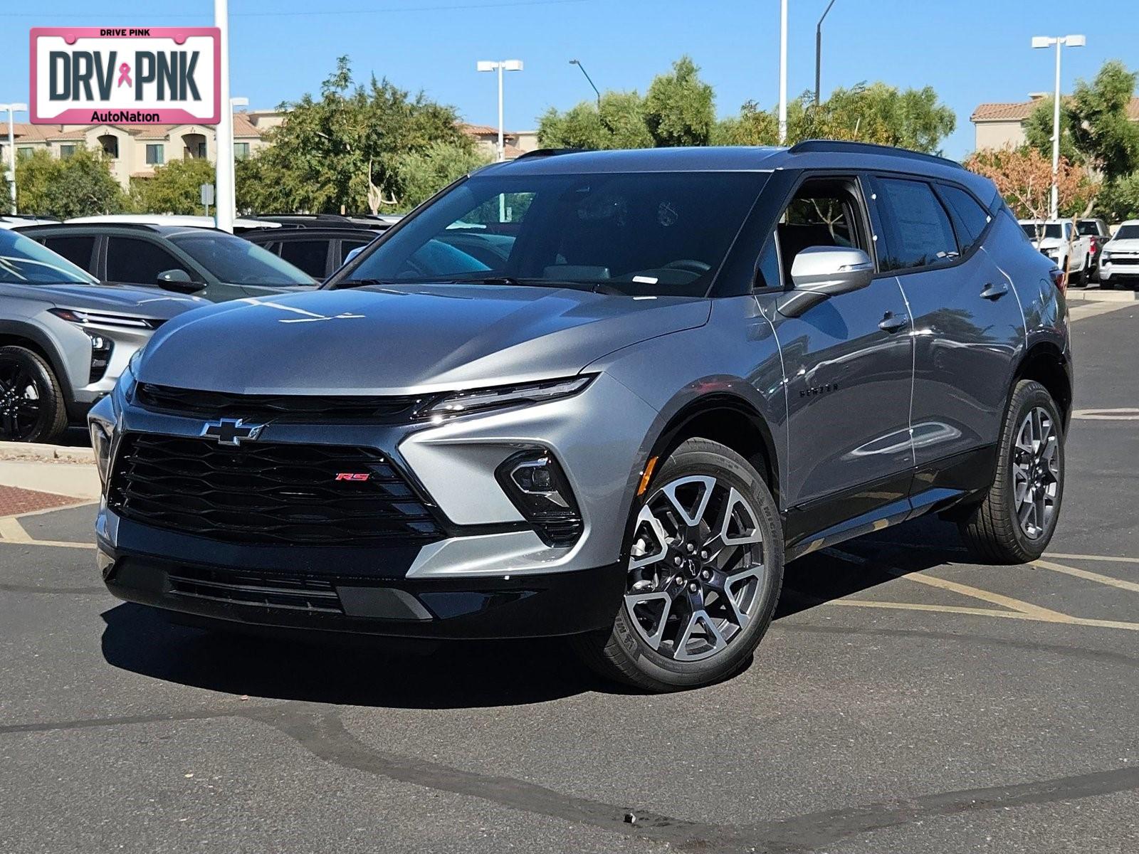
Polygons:
M175 627L101 589L90 506L0 519L0 851L1134 852L1139 303L1073 330L1044 560L937 520L810 556L698 691Z

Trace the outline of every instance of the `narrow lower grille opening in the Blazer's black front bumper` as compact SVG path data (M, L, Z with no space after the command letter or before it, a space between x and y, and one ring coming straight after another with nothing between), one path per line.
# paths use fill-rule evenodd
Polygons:
M344 613L336 589L323 578L197 567L179 567L166 577L171 592L180 597L284 610Z

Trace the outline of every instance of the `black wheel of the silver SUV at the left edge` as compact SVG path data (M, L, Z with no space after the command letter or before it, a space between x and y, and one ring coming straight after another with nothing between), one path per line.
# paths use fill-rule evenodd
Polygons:
M0 347L0 441L55 442L67 429L63 388L26 347Z

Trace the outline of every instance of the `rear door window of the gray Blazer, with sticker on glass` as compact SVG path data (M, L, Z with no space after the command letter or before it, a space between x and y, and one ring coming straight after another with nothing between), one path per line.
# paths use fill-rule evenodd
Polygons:
M929 184L894 178L878 179L877 184L886 231L886 245L878 247L883 271L933 266L957 257L953 227Z

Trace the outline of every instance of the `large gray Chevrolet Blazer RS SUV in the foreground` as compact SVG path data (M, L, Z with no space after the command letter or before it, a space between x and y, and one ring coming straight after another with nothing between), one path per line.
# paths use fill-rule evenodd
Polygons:
M534 151L317 293L157 330L90 416L116 596L207 625L571 635L723 679L786 561L916 516L986 561L1056 527L1058 271L936 157Z

